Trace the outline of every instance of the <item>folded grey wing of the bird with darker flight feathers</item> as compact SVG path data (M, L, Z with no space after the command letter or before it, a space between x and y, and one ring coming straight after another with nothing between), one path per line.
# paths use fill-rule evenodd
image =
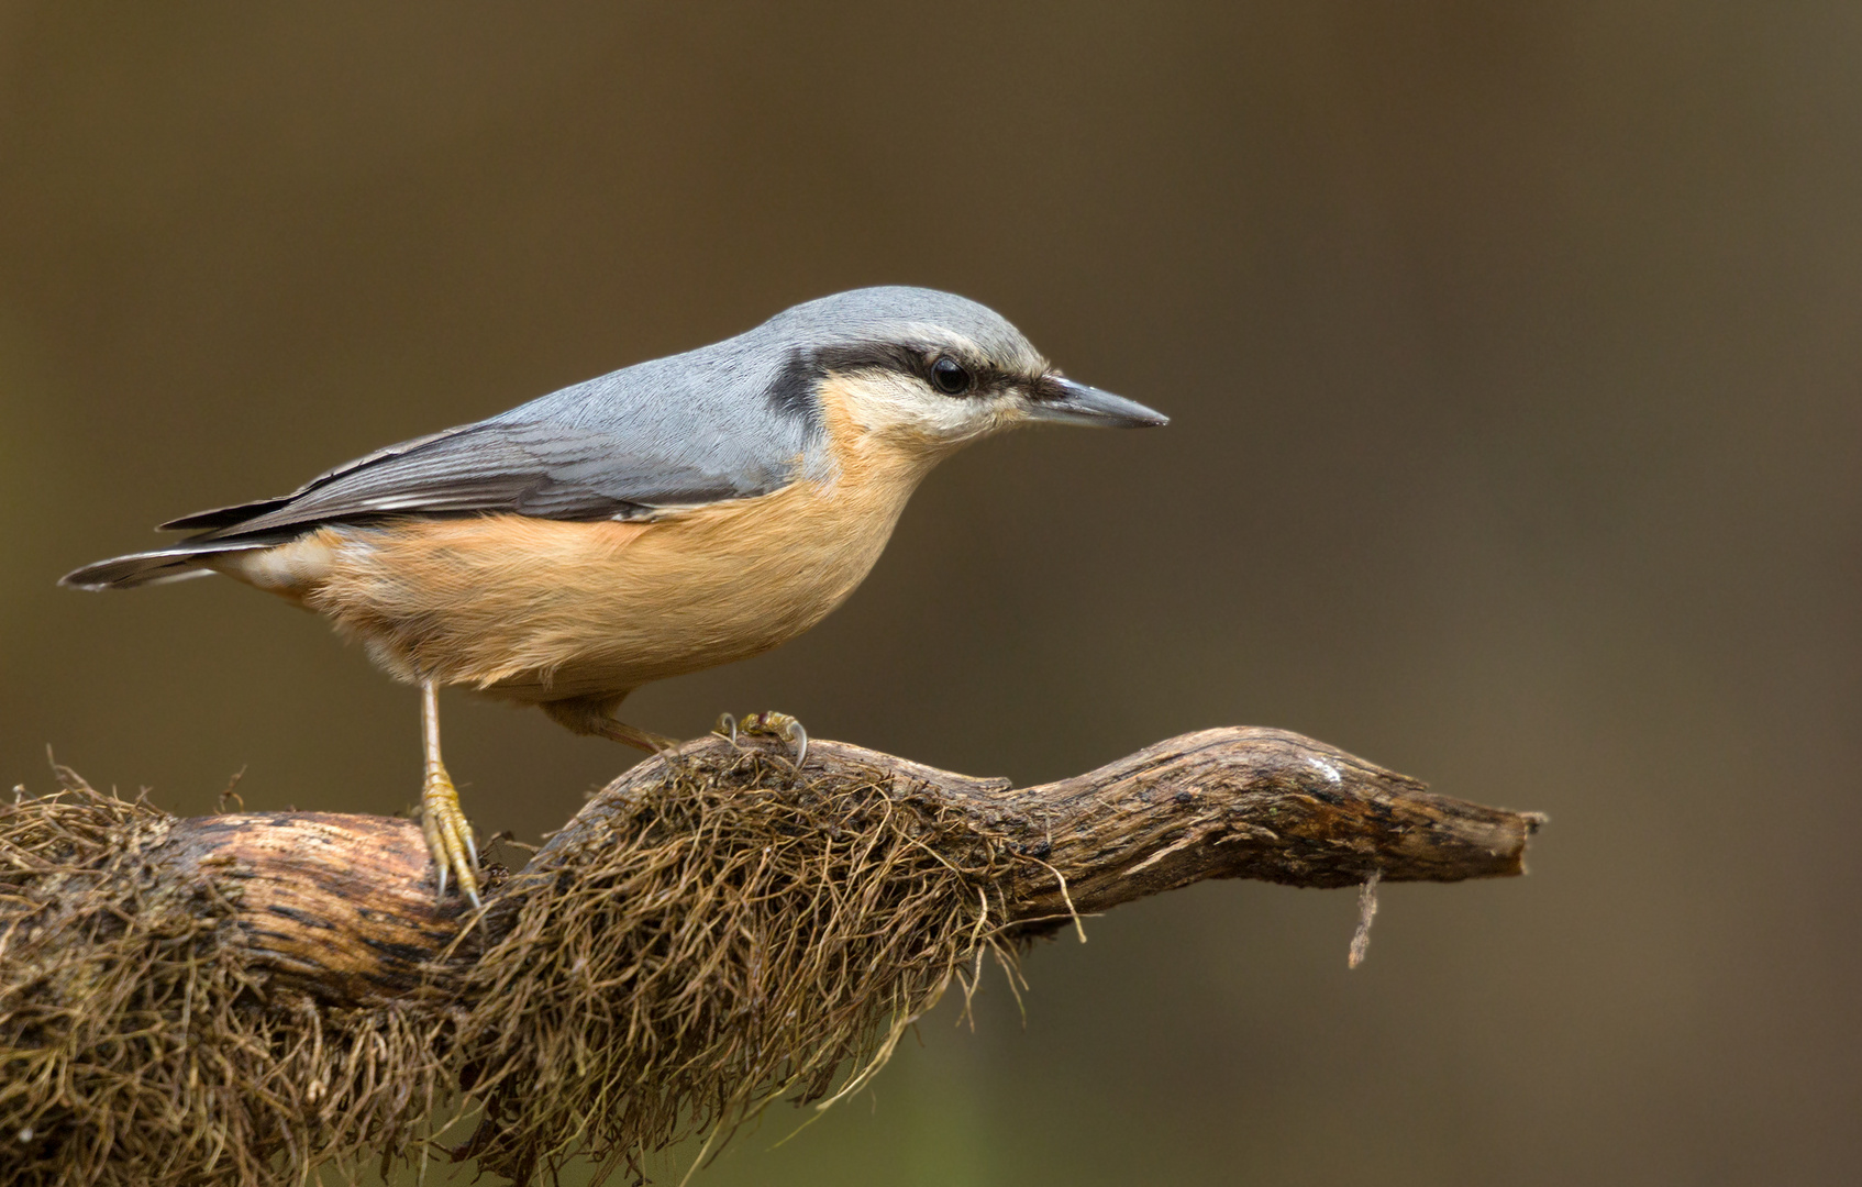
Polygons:
M322 474L292 495L186 515L164 528L223 540L372 515L514 512L629 519L663 506L762 495L784 467L708 467L611 430L486 420L421 437Z

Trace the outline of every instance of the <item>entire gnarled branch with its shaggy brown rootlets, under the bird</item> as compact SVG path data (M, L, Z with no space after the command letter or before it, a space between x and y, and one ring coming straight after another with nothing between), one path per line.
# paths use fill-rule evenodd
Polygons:
M436 900L412 820L177 820L73 776L0 811L0 1133L26 1135L0 1180L259 1183L467 1129L456 1154L519 1181L577 1152L637 1170L857 1088L983 954L1017 979L1078 914L1203 878L1519 874L1542 822L1275 729L1024 789L706 737L477 915Z

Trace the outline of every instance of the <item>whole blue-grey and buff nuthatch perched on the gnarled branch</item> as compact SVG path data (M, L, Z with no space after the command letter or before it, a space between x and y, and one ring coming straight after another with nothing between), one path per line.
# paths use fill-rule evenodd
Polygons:
M477 908L477 843L439 750L441 685L540 705L581 735L676 746L614 716L629 692L814 627L866 579L940 460L1033 422L1167 417L1067 378L972 300L857 288L389 445L289 495L171 519L158 530L186 538L60 584L220 573L333 620L421 692L419 817L438 893L451 874ZM795 718L752 720L804 761Z

